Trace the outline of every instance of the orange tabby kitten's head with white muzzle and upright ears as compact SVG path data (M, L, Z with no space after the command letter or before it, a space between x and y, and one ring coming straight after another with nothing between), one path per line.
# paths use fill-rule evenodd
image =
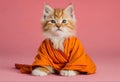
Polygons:
M73 36L75 34L75 16L72 4L64 9L54 9L46 4L42 26L47 38Z

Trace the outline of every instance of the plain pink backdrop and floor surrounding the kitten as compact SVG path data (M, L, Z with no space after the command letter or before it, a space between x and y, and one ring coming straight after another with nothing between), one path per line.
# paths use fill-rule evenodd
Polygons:
M77 36L97 65L97 73L62 77L21 74L14 63L31 64L43 40L45 3L73 3ZM120 81L120 0L0 0L0 81Z

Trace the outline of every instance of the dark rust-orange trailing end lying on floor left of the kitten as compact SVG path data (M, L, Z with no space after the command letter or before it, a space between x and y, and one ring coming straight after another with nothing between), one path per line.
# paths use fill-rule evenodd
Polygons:
M15 68L19 69L21 73L30 74L32 72L32 65L27 64L15 64Z

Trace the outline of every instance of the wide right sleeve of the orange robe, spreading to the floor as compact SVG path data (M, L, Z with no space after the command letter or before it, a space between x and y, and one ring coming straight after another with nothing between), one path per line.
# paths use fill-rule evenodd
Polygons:
M87 74L95 73L96 66L90 57L85 53L81 42L76 39L72 50L69 52L70 59L63 69L77 70Z

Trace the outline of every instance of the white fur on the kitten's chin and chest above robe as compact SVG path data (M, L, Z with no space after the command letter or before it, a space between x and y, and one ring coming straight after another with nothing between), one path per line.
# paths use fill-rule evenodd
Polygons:
M66 27L61 27L60 29L62 31L56 31L57 28L50 28L49 31L44 32L43 34L46 38L49 38L52 41L53 47L55 49L60 49L64 52L64 40L67 37L75 35L75 32Z

